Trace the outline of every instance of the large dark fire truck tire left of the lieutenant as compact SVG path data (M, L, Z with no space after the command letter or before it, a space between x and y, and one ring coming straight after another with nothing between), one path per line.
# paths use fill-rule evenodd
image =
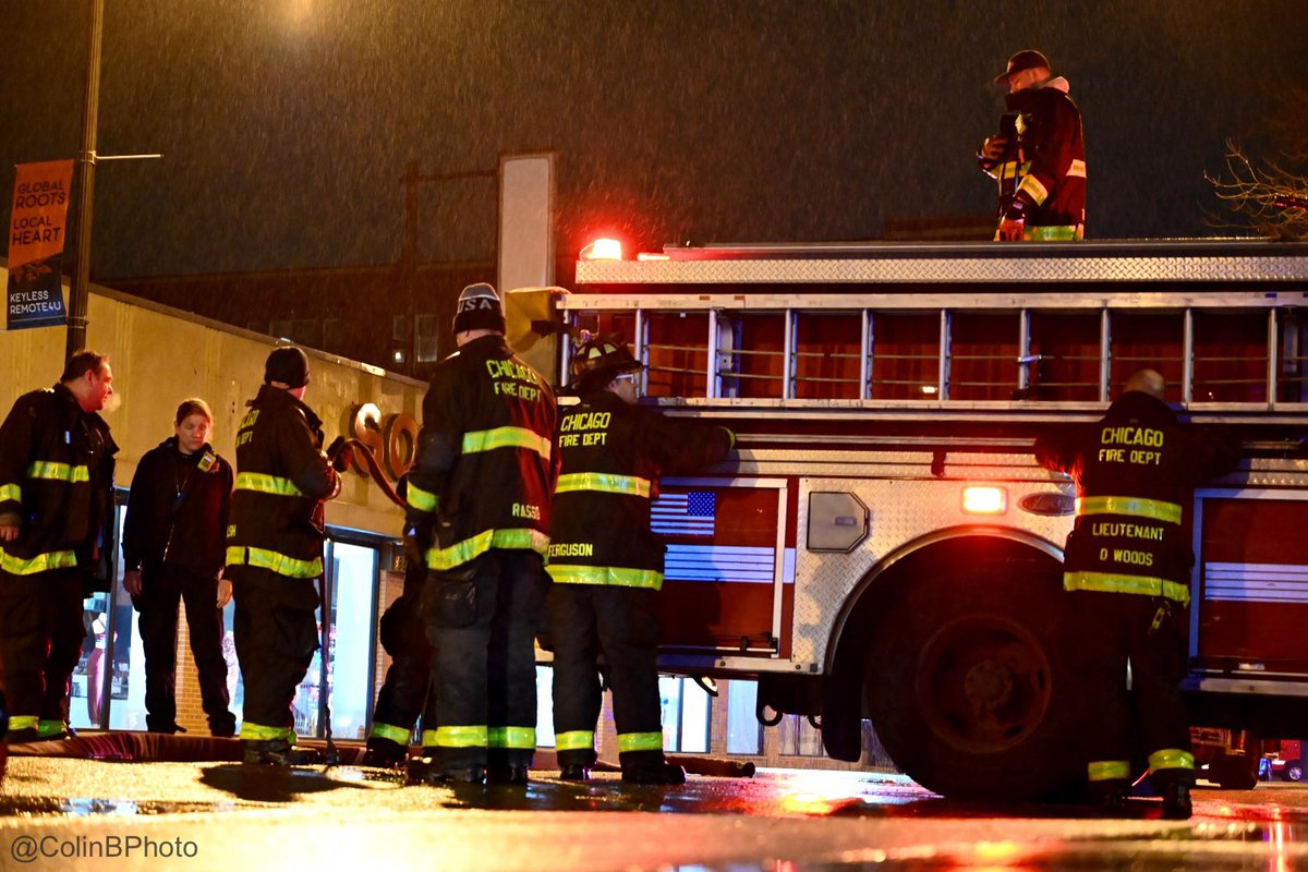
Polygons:
M952 569L893 597L869 648L865 693L891 758L951 799L1071 796L1084 778L1056 577Z

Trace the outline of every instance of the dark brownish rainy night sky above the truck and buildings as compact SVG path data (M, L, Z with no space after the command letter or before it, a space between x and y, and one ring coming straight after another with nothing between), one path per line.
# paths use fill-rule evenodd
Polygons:
M76 157L88 4L0 0L0 190ZM1091 238L1190 237L1203 171L1308 88L1299 1L107 0L93 278L385 264L409 161L557 149L559 246L875 239L984 214L1027 47L1086 120ZM1308 126L1308 119L1303 119ZM422 191L422 260L490 259L494 184Z

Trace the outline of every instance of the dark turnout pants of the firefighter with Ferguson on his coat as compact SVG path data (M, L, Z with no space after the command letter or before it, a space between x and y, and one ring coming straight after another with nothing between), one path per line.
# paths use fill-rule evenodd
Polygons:
M624 769L663 762L662 702L655 648L658 591L606 584L553 584L555 741L560 766L595 762L598 656L607 663L613 723Z

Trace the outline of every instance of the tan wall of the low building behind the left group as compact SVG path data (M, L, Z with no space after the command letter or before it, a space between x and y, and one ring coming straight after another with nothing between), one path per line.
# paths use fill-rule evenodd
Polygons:
M3 267L0 282L8 284ZM105 414L120 447L118 484L127 486L141 455L173 435L173 414L188 396L213 408L213 447L234 464L237 425L263 383L263 362L276 340L103 288L92 288L89 303L86 344L110 356L114 390L122 395L122 405ZM378 318L386 322L378 329L388 331L388 319ZM21 394L59 379L64 343L61 327L0 332L0 414L8 414ZM305 401L322 417L327 442L349 433L360 403L375 403L383 416L421 418L424 383L322 352L309 354ZM327 523L398 537L403 514L368 478L351 473L327 506Z

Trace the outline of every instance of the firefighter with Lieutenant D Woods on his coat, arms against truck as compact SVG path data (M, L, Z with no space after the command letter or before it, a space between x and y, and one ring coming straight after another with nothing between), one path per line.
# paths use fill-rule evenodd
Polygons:
M1037 439L1036 460L1076 484L1063 588L1073 599L1074 673L1084 681L1091 800L1108 812L1124 808L1139 739L1164 816L1188 818L1194 756L1180 681L1194 554L1186 506L1198 481L1235 468L1240 446L1226 429L1179 418L1164 388L1154 370L1133 374L1097 424Z

